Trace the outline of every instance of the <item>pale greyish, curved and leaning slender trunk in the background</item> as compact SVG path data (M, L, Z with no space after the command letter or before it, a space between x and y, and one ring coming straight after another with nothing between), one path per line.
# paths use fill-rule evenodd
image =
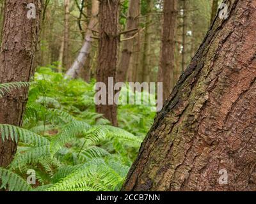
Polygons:
M85 40L83 47L81 48L79 54L77 55L76 61L72 64L71 68L68 69L66 76L70 78L77 78L82 69L84 69L85 62L90 54L92 46L92 36L95 27L98 24L98 14L99 14L99 1L92 0L92 15L86 31Z

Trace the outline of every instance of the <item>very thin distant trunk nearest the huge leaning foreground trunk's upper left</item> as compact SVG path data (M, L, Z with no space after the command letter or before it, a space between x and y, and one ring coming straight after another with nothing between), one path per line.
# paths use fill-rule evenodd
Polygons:
M188 0L182 0L182 71L186 69L187 65L187 26L188 26L188 10L187 10Z

